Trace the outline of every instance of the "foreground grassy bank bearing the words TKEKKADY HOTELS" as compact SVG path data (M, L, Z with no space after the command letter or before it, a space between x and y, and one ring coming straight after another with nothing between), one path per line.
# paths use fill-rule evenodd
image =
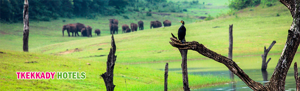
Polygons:
M0 89L1 90L105 90L103 79L106 72L102 61L1 50ZM118 56L119 57L119 56ZM25 63L25 61L37 63ZM91 65L87 65L90 63ZM16 72L85 72L85 79L17 79ZM158 91L164 88L164 71L150 68L116 64L114 68L115 91ZM211 75L189 75L190 87L201 87L228 82L229 79ZM177 91L182 88L181 74L169 72L168 88Z

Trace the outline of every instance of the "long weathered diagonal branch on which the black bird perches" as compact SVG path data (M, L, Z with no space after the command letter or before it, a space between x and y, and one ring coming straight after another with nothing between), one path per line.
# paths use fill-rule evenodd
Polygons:
M199 44L197 41L185 42L184 44L180 43L180 40L177 40L173 37L170 38L169 42L173 47L177 47L181 50L193 50L197 51L199 54L202 54L205 57L211 58L217 62L224 64L231 72L233 72L237 77L239 77L247 86L249 86L254 91L267 91L267 88L264 87L259 82L255 82L249 78L249 76L240 68L238 65L231 59L222 56L214 51L211 51L204 47L203 44Z

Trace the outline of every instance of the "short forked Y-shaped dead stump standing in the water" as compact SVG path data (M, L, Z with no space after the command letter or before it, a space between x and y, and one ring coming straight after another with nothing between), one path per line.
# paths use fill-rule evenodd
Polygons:
M268 61L266 61L267 60L267 55L268 55L269 51L271 50L271 48L274 46L275 43L276 43L276 41L274 40L272 42L272 44L269 46L268 49L266 49L266 46L264 46L264 54L261 55L261 58L263 59L263 61L261 63L261 70L262 71L266 70L267 67L268 67L268 63L271 60L271 58L269 58Z

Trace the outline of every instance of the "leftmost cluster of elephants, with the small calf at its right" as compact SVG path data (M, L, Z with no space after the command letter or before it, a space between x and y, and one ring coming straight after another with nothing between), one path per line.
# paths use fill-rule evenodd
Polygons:
M63 25L63 36L65 30L67 30L69 37L70 37L70 33L72 33L72 37L74 36L74 33L75 33L75 37L79 36L78 32L81 32L81 36L83 37L92 37L92 27L89 25L85 26L82 23ZM96 29L95 35L96 34L97 36L100 36L101 31L99 29Z

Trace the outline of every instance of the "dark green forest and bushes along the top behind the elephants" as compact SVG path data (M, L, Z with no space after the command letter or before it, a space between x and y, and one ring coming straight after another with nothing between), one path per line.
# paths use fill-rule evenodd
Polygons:
M275 0L231 0L231 9L243 9L259 5L260 2L272 6ZM271 2L271 3L270 3ZM198 0L172 2L167 0L29 0L30 19L50 21L51 19L98 16L114 16L125 12L184 12L185 7L200 4ZM23 0L0 0L0 20L18 22L23 18ZM204 3L203 3L204 4Z

